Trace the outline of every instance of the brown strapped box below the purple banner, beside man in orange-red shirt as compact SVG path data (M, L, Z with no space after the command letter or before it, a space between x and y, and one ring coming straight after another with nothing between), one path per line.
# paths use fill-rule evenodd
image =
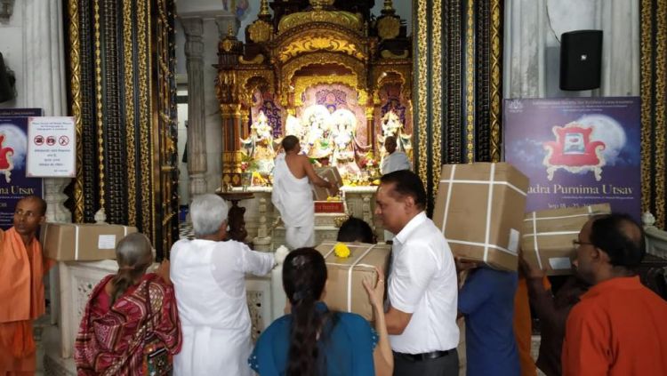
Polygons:
M609 204L528 212L521 233L524 259L549 276L572 274L573 240L593 215L611 212Z

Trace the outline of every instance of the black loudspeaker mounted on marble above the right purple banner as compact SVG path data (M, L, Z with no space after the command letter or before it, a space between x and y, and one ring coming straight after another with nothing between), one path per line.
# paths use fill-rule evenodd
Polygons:
M560 37L560 90L599 88L602 30L576 30Z

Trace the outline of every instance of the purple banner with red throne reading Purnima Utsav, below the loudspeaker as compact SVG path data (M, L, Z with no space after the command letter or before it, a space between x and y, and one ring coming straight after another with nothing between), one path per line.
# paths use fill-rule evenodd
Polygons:
M640 217L639 97L505 100L505 160L530 178L526 212L611 204Z

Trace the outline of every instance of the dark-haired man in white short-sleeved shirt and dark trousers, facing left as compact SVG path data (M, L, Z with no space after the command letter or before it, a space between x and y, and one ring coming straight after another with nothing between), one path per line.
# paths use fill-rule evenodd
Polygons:
M375 214L394 237L387 330L394 375L458 375L454 257L426 217L422 180L407 170L382 176Z

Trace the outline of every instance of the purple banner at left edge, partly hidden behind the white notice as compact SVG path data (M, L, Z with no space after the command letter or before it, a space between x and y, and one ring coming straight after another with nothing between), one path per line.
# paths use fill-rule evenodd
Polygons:
M26 178L27 155L28 117L0 117L0 228L12 227L22 197L42 196L42 179Z

